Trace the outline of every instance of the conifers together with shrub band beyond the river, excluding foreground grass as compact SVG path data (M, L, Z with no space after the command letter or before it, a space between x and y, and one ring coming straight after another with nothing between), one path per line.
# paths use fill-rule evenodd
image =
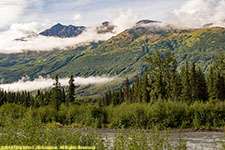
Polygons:
M93 128L223 128L225 125L225 58L203 72L194 63L177 70L170 52L145 57L148 70L124 81L124 87L98 99L76 99L73 75L68 87L58 76L51 90L0 91L0 125L29 112L41 123Z

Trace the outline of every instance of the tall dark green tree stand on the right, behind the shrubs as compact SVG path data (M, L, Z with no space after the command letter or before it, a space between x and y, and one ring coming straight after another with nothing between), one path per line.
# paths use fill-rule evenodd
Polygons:
M170 52L145 57L149 71L136 75L133 84L126 79L123 88L109 91L102 99L102 105L121 103L155 102L174 100L193 103L209 99L225 100L225 58L220 52L218 60L204 73L195 63L177 69L177 61Z

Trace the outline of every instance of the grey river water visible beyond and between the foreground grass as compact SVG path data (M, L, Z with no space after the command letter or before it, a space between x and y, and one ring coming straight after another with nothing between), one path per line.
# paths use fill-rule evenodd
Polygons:
M97 131L103 138L113 141L114 135L117 131ZM148 133L146 133L148 134ZM169 138L173 143L182 137L182 140L186 141L188 150L225 150L222 145L225 145L225 133L224 132L169 132Z

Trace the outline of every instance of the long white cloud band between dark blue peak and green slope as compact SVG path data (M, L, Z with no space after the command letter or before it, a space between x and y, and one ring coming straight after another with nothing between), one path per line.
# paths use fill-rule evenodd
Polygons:
M18 32L18 31L17 31ZM12 32L12 37L15 37L14 34L16 32ZM19 32L21 35L25 35ZM0 52L2 53L17 53L23 52L24 50L30 51L50 51L54 48L64 49L68 46L75 46L77 44L85 44L89 42L97 42L109 39L114 34L106 33L106 34L98 34L96 28L88 28L81 35L73 38L58 38L58 37L46 37L42 35L31 36L28 38L24 38L24 41L13 40L8 42L1 42L0 44ZM1 38L1 36L0 36ZM4 35L2 36L2 39Z

